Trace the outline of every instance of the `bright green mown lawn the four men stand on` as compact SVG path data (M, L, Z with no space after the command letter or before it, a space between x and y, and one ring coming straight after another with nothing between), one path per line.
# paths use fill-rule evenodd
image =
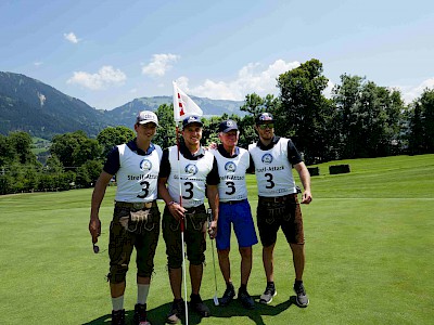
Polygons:
M337 164L349 164L352 172L328 174L328 166ZM213 316L200 320L190 314L189 324L432 324L434 155L319 167L320 176L312 178L314 202L303 206L309 307L291 304L294 271L280 233L275 256L278 296L270 306L257 304L254 311L242 309L238 301L225 309L214 307L208 246L201 292ZM254 177L248 177L248 190L255 211ZM101 208L99 255L92 252L87 230L91 190L0 197L0 324L108 323L111 300L104 276L114 194L115 188L108 187ZM238 286L234 237L232 247ZM265 288L260 256L256 245L248 284L255 298ZM217 272L221 296L225 285ZM129 317L136 302L135 274L131 263L125 297ZM171 299L161 238L148 301L153 324L164 323Z

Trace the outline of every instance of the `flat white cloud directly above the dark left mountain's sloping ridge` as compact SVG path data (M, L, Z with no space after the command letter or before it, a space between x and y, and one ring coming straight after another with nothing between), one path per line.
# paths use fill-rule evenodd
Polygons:
M88 74L85 72L74 72L74 76L69 78L67 83L80 84L91 90L103 89L111 84L123 84L127 76L119 69L114 69L113 66L103 66L97 74Z

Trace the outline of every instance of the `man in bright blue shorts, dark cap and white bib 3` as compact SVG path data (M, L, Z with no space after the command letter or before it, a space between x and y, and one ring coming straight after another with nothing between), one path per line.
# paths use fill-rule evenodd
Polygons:
M245 183L245 172L250 167L250 154L246 150L237 146L240 131L234 120L222 121L218 131L221 144L216 150L212 150L212 153L217 159L220 176L216 244L220 271L226 282L226 290L219 299L219 303L222 307L228 306L235 296L229 260L231 226L233 225L241 255L241 286L238 299L244 308L254 309L255 303L247 292L247 282L252 271L252 246L258 240Z

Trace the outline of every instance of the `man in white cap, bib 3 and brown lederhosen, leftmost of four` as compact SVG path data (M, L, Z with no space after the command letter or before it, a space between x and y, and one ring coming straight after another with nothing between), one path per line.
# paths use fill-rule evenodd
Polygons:
M92 194L89 231L92 242L97 243L101 234L101 202L110 180L116 174L117 191L110 226L107 275L113 306L112 324L125 324L125 280L133 248L137 251L138 287L133 321L140 325L150 324L146 318L146 300L161 220L156 198L163 152L151 142L157 126L158 119L153 112L143 110L138 114L135 123L137 138L112 150Z

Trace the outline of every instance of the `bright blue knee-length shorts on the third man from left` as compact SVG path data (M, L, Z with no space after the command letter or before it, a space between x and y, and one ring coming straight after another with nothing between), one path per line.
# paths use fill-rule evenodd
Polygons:
M251 247L258 243L248 200L220 202L216 236L217 249L230 248L231 223L233 223L239 247Z

